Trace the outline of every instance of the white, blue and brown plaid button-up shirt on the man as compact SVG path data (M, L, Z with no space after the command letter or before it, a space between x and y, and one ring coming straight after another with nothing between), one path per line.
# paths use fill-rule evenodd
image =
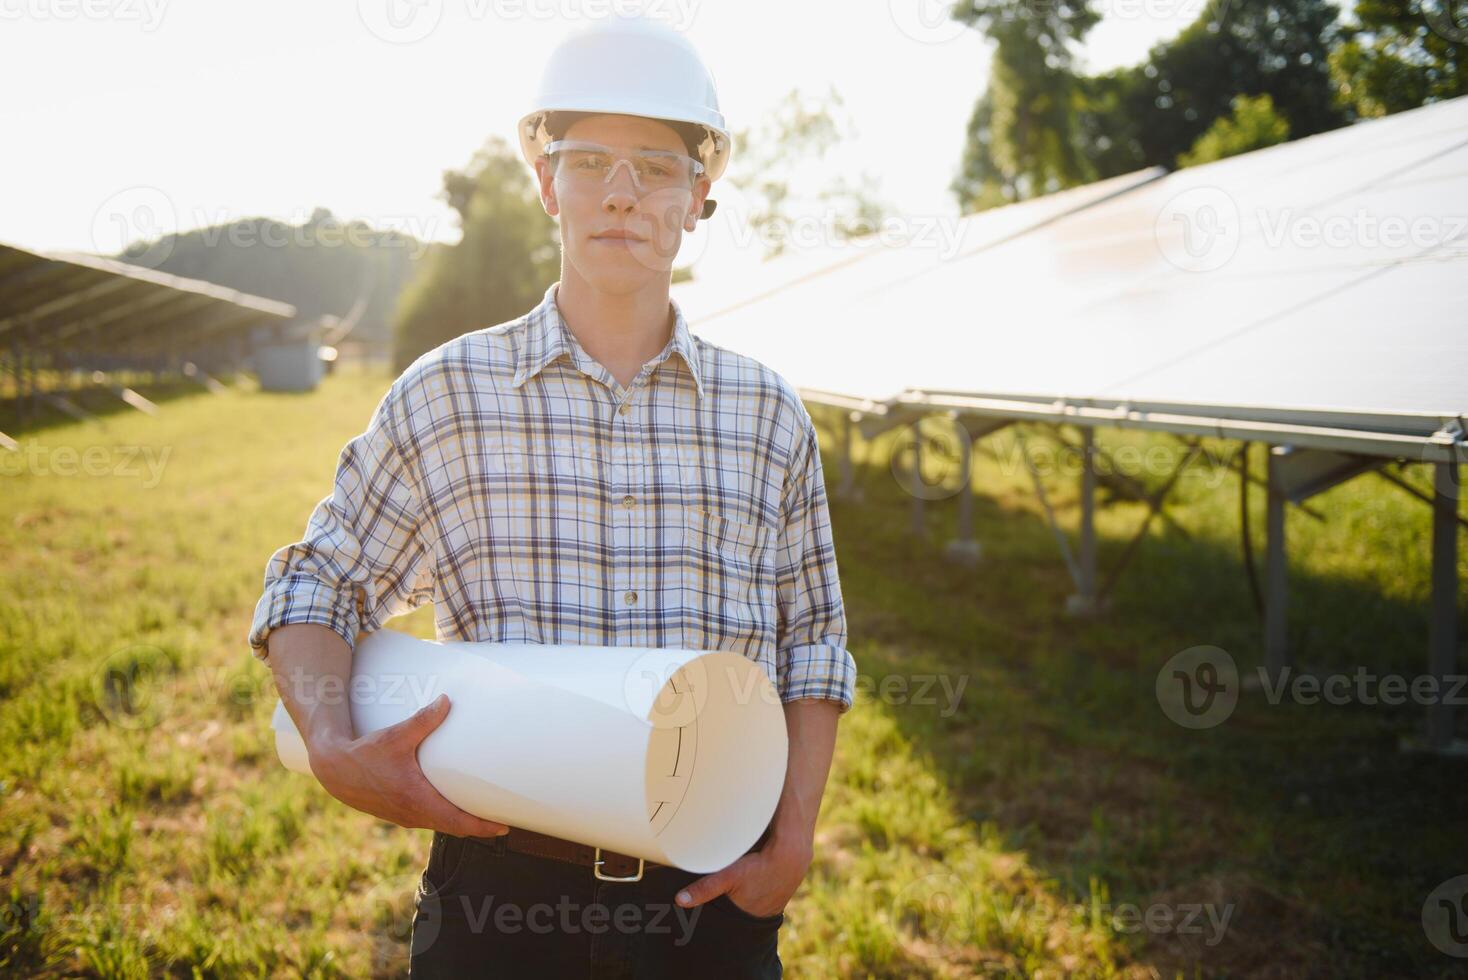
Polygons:
M433 601L440 640L733 650L782 701L851 707L856 665L815 425L790 383L688 332L622 387L528 314L399 376L277 550L250 646ZM677 355L677 356L672 356Z

